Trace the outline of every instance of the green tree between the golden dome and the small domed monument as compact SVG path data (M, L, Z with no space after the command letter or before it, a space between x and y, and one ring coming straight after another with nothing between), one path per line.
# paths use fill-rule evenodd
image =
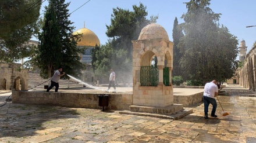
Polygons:
M133 11L121 8L113 9L111 25L106 25L106 35L111 39L105 46L99 48L100 52L108 50L105 52L109 54L98 56L97 60L93 60L93 66L97 63L95 64L97 69L94 69L96 75L107 72L109 76L109 69L113 68L119 80L123 80L123 82L130 80L128 82L131 82L133 51L131 41L138 39L140 31L145 25L158 19L157 16L151 16L151 19L147 20L147 14L146 7L142 3L140 6L133 5Z

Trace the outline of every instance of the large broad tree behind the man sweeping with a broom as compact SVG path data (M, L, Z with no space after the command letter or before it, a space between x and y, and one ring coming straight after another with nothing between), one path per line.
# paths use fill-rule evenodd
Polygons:
M183 14L184 37L180 39L183 78L206 83L233 76L237 56L236 36L219 27L221 14L212 12L210 0L191 0Z

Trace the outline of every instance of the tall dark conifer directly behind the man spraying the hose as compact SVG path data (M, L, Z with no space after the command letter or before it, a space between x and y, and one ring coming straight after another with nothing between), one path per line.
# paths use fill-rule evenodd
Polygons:
M45 8L40 45L34 57L43 78L51 77L60 65L66 74L72 76L79 76L84 69L79 56L84 49L76 47L80 35L73 35L73 23L68 19L69 4L65 0L51 0Z

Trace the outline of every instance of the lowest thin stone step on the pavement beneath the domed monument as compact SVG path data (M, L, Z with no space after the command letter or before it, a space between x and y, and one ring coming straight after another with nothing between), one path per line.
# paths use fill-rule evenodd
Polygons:
M173 113L172 115L161 115L157 113L144 113L144 112L132 112L132 111L119 111L119 114L150 116L154 118L172 119L172 120L183 118L184 116L189 115L190 113L193 113L193 108L184 108L177 113Z

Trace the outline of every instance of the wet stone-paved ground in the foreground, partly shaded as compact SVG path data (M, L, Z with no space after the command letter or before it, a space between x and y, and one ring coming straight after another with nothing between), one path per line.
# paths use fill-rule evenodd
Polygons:
M237 85L223 90L218 97L230 115L221 116L218 102L217 119L204 119L201 103L190 115L168 120L8 102L0 107L0 142L256 142L256 93ZM0 105L9 95L0 94Z

